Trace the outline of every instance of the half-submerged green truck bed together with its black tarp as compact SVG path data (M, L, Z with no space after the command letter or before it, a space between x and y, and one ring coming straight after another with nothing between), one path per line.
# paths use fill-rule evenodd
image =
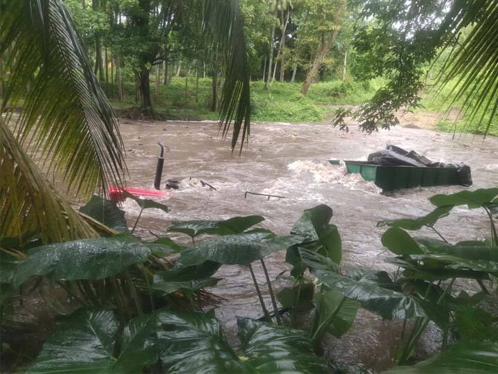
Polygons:
M328 161L332 165L344 162L348 173L358 173L366 181L373 181L387 191L418 186L472 185L470 167L464 163L432 162L395 145L369 154L368 161Z

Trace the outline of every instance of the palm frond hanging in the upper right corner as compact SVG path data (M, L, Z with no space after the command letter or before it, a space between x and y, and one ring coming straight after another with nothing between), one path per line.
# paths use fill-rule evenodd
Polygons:
M459 38L469 26L470 33ZM498 110L498 2L455 1L440 35L452 35L450 43L459 38L459 46L439 72L440 92L454 84L449 106L463 100L466 126L479 130L484 124L487 134Z

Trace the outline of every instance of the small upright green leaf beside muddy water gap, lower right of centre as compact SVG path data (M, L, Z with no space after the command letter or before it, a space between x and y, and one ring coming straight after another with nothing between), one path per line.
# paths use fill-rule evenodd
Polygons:
M315 295L316 312L313 332L329 332L335 337L342 337L356 318L360 303L345 298L335 290L323 290Z

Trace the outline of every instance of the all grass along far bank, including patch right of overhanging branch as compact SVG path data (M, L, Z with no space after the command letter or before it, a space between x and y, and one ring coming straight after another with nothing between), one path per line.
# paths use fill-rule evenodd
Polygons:
M340 80L313 84L307 96L301 94L301 83L273 82L270 89L264 89L264 82L251 84L252 120L273 122L320 122L333 116L340 105L359 105L369 100L382 84L382 80L371 82L349 82L343 87ZM211 112L212 82L211 78L200 78L196 86L195 78L172 78L170 84L160 84L158 93L151 82L154 108L166 118L180 120L216 120L216 112ZM430 128L441 132L453 132L455 123L459 132L482 132L486 126L466 124L458 117L459 103L451 105L448 118L445 109L450 106L448 97L453 87L447 87L439 94L435 89L427 89L422 94L421 108L414 111L409 122L418 127ZM132 83L124 84L124 100L116 101L115 93L107 89L109 97L114 98L113 106L118 109L136 107L135 88ZM401 119L404 123L405 119ZM498 124L493 123L488 134L498 135Z

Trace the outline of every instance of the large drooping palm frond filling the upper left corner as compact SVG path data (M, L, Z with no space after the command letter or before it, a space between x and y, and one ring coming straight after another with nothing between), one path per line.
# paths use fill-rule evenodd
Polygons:
M77 193L121 185L118 122L64 2L6 0L0 7L0 53L9 49L4 68L11 72L2 107L22 103L19 143Z

